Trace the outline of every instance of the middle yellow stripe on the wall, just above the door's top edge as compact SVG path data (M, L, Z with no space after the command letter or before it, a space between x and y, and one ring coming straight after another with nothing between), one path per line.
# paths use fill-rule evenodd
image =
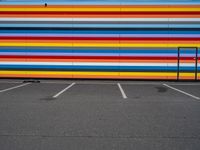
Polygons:
M55 47L200 47L199 43L174 43L174 44L151 44L151 43L0 43L0 46L55 46Z

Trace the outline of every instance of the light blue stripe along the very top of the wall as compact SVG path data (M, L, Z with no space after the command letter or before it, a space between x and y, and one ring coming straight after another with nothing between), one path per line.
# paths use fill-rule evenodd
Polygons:
M198 0L188 0L188 1L179 1L179 0L173 0L173 1L162 1L162 0L143 0L143 1L130 1L130 0L115 0L115 1L102 1L102 0L60 0L60 1L51 1L46 0L48 2L48 6L50 7L65 7L66 5L69 6L85 6L85 7L91 7L91 6L103 6L103 7L127 7L127 6L137 6L137 7L167 7L167 6L173 6L173 7L198 7L199 2ZM20 7L20 8L29 8L29 7L39 7L44 6L44 2L41 1L13 1L13 0L6 0L1 2L2 7Z

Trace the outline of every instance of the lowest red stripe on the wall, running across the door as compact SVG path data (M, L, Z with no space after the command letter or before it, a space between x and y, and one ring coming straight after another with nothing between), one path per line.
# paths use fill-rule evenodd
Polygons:
M0 55L0 58L35 58L35 59L136 59L136 60L176 60L176 56L26 56L26 55ZM193 57L181 57L181 60L193 60Z

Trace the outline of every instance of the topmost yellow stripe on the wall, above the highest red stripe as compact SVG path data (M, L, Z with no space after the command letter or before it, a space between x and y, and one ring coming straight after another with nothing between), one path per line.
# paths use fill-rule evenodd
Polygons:
M193 8L173 8L173 7L164 7L164 8L142 8L142 7L121 7L121 8L108 8L108 7L101 7L101 8L88 8L88 7L84 7L84 8L70 8L70 7L66 7L66 8L16 8L16 7L10 7L10 8L0 8L0 11L131 11L131 12L145 12L145 11L183 11L183 12L191 12L191 11L200 11L200 7L193 7Z

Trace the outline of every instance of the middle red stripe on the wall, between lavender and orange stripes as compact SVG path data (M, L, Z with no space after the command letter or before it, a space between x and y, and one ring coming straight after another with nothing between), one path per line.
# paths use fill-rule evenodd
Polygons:
M181 38L181 37L25 37L25 36L0 36L0 40L155 40L155 41L200 41L200 37Z

